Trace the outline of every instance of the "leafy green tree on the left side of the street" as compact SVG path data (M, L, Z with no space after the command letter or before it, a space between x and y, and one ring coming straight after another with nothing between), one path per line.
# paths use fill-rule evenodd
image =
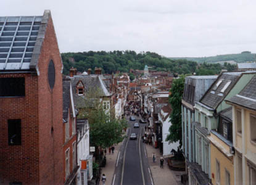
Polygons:
M91 146L106 148L123 141L123 130L127 127L125 119L118 120L107 112L101 102L100 89L89 89L85 93L85 108L81 109L80 118L87 118L90 126Z

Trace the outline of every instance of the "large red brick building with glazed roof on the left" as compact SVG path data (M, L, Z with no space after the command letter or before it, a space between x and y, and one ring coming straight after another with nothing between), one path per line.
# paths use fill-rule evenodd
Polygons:
M49 10L0 17L0 184L64 184L62 60Z

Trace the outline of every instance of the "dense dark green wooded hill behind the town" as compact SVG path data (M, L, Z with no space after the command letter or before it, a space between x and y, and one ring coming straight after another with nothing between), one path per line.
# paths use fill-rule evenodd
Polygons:
M148 65L153 70L168 71L171 73L188 74L196 72L197 75L213 75L221 71L220 64L203 64L186 59L168 59L155 52L135 51L88 51L62 53L64 74L68 74L71 67L79 72L87 71L95 67L103 69L102 73L115 73L116 71L128 73L130 69L143 70ZM226 67L224 67L226 68Z

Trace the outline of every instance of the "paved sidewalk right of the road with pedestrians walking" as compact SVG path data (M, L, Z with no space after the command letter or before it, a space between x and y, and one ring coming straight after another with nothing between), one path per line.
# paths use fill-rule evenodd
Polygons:
M180 175L184 174L184 171L173 171L170 170L167 163L167 158L163 162L163 168L160 168L160 154L159 149L155 149L149 144L145 144L147 150L147 158L149 160L149 166L151 168L151 175L155 185L181 185ZM153 162L152 154L155 153L156 162Z

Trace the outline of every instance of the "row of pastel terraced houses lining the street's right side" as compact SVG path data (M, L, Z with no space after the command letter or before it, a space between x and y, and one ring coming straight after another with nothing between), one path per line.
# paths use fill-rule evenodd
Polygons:
M187 76L182 133L184 184L256 184L256 72Z

